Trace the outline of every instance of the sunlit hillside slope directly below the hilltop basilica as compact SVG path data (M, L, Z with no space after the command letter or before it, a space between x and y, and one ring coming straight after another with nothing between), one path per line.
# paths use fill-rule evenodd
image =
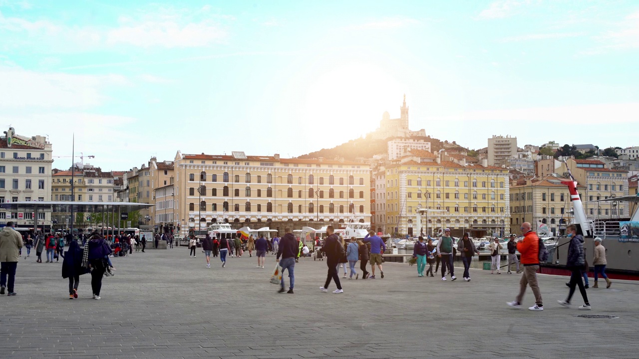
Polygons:
M351 140L340 144L339 146L335 146L334 148L323 148L319 151L299 156L298 158L344 158L344 160L347 161L355 161L357 158L373 158L374 155L387 153L387 142L393 139L395 138L373 139L369 135L366 138ZM465 148L458 146L455 142L449 143L448 141L440 141L430 136L411 137L411 139L431 142L431 151L433 152L439 151L444 148L444 146L446 146L447 149L459 148L466 151Z

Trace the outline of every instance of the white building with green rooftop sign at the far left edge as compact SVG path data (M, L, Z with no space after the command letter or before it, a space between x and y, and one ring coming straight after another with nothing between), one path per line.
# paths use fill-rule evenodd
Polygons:
M0 137L0 202L47 201L51 198L52 146L46 137L17 135L13 127ZM33 227L33 212L0 211L0 227ZM51 213L39 212L38 228L51 228Z

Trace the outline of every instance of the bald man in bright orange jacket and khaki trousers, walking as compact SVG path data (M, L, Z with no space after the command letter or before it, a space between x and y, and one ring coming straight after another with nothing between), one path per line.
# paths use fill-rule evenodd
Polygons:
M537 237L537 233L534 233L532 229L530 229L530 223L528 222L521 224L521 233L523 233L524 238L517 242L517 250L521 254L521 264L523 265L523 275L521 275L520 280L520 293L517 294L517 298L514 302L508 302L507 304L514 309L521 309L523 294L526 293L526 287L530 285L532 293L535 294L535 305L528 309L544 310L544 305L541 301L541 291L539 291L539 284L537 284L537 271L539 270L539 237Z

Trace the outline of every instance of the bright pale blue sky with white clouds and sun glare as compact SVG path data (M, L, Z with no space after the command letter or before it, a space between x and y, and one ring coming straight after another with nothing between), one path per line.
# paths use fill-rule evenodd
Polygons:
M471 149L639 146L637 1L0 0L0 127L105 170L295 157L384 111ZM79 160L79 159L77 159Z

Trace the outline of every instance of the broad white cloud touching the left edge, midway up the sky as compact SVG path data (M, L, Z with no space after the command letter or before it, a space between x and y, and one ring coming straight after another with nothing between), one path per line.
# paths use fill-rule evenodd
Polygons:
M69 75L38 73L17 66L0 65L0 109L81 109L100 105L105 96L99 90L124 85L120 75Z

